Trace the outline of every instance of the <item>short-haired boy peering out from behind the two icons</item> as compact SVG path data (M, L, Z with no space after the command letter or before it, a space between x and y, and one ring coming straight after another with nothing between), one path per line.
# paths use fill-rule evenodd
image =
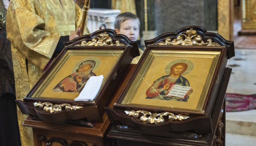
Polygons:
M130 40L137 41L139 37L140 22L139 18L130 12L124 12L116 17L114 28L117 34L124 34ZM132 60L132 64L137 64L143 50L139 49L140 56L135 57Z

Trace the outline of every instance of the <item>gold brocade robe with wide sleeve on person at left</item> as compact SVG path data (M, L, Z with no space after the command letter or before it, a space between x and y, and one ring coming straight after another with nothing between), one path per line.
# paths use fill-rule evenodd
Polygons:
M23 99L41 77L60 36L79 26L81 9L73 0L11 0L6 15L7 38L15 76L16 99ZM27 59L27 63L26 63ZM17 108L22 146L33 146L32 129L22 126L27 117Z

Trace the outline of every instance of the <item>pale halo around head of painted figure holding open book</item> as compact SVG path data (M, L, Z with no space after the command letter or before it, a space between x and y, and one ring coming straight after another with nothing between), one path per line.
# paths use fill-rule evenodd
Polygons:
M187 70L183 74L181 74L182 76L189 74L194 69L194 63L191 60L188 60L188 59L177 59L177 60L171 61L170 63L168 63L165 66L165 74L166 75L170 74L172 65L174 65L176 63L186 63L188 65Z

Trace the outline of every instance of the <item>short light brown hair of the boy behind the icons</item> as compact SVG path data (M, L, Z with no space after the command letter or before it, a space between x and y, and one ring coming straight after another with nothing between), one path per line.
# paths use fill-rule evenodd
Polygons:
M116 20L115 20L115 23L114 23L114 28L119 30L120 26L121 26L121 23L123 23L126 20L136 20L138 22L139 28L140 28L139 17L136 16L135 14L133 14L133 13L130 13L130 12L124 12L124 13L119 14L116 17Z

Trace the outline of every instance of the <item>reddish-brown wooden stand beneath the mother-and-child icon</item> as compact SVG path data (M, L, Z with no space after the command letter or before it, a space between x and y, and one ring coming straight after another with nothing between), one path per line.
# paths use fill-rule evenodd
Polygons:
M129 66L126 77L123 80L122 85L116 94L120 94L122 88L124 88L126 82L129 80L136 65ZM114 96L110 107L117 100L118 96ZM58 118L58 117L56 117ZM94 127L90 125L82 126L83 123L68 123L67 121L62 123L51 123L43 121L37 117L27 117L23 125L31 127L33 129L33 139L35 146L44 145L62 145L62 146L114 146L115 140L106 138L106 133L110 126L107 114L102 115L103 122L92 123Z

